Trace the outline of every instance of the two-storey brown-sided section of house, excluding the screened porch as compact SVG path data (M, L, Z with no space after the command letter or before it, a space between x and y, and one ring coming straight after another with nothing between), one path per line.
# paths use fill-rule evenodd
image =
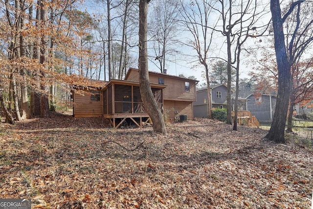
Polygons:
M196 101L197 80L165 73L149 71L151 83L164 85L163 114L167 121L175 121L176 116L186 115L187 120L194 118L193 102ZM139 82L139 70L130 68L125 80Z

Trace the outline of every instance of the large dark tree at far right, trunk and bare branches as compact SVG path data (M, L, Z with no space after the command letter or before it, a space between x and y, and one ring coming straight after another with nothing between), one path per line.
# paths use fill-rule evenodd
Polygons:
M273 121L266 138L277 143L286 142L285 127L291 95L291 67L295 64L297 58L303 54L306 47L313 41L312 34L307 36L308 34L306 33L311 27L313 19L306 22L307 24L305 26L300 27L301 21L303 21L300 18L301 5L305 2L303 0L292 2L287 8L286 13L282 16L280 1L270 0L278 69L278 93ZM307 3L310 3L310 1ZM296 18L294 21L295 27L292 27L292 30L288 31L288 34L291 35L286 36L284 23L286 23L286 19L290 15L294 15ZM302 42L301 40L305 41ZM288 46L285 43L288 43Z

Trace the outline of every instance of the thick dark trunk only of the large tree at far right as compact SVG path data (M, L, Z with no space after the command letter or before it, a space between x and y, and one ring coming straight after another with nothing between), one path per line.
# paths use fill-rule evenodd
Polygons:
M276 108L267 139L285 143L286 117L290 96L291 66L286 53L283 20L279 0L270 0L270 11L273 20L274 46L278 68L278 93Z

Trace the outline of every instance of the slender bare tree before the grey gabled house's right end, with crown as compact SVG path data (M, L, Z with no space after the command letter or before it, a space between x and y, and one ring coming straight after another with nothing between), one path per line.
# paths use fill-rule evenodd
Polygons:
M222 34L226 39L227 48L227 123L232 124L231 115L231 80L232 65L235 65L237 74L239 73L240 51L247 37L254 36L249 34L251 29L257 29L254 25L262 18L266 11L260 9L257 0L216 0L213 6L215 12L221 17L221 26L213 28ZM260 10L260 11L258 11ZM264 25L261 25L264 27ZM237 81L238 81L237 75ZM237 82L238 83L238 82ZM238 85L236 85L238 88ZM237 90L238 92L238 90Z

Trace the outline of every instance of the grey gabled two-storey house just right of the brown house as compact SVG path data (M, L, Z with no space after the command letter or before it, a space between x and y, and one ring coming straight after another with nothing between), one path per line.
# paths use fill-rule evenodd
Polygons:
M232 90L232 96L234 91ZM246 98L238 98L238 110L247 110ZM227 105L227 85L218 84L211 86L211 101L212 108L226 108ZM234 110L234 98L231 100L232 110ZM207 117L208 116L208 97L207 88L202 88L197 90L197 101L194 102L194 116L195 117Z

